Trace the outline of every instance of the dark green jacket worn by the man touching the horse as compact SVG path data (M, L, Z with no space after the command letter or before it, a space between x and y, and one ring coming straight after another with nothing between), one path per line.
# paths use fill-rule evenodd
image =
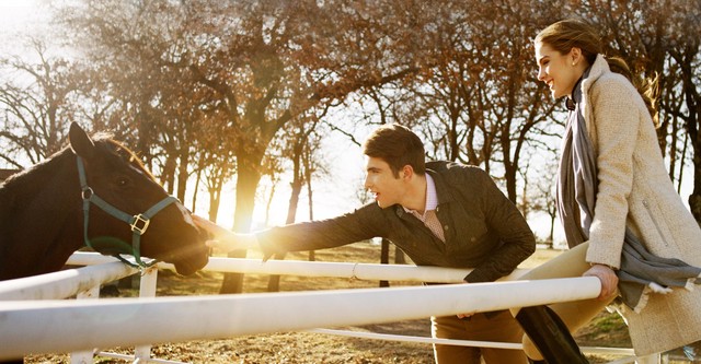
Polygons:
M417 266L474 268L468 282L507 275L536 250L526 220L484 171L449 162L429 162L426 169L436 185L446 243L401 206L370 203L337 218L257 233L262 249L268 257L384 237Z

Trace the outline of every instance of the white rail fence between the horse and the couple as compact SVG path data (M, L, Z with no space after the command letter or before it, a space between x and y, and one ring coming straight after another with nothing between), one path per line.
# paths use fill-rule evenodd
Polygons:
M149 360L151 343L489 312L591 298L600 291L600 283L596 278L572 278L156 298L153 296L157 271L152 269L142 278L147 281L142 280L141 283L141 294L150 297L59 301L57 298L73 294L84 296L81 292L85 291L91 292L88 296L96 296L95 286L99 289L101 283L137 272L115 262L113 258L97 254L78 253L71 257L69 263L100 266L0 282L0 360L27 353L83 351L74 356L73 362L89 362L92 360L93 348L130 345L140 345L135 354L137 361ZM169 265L159 267L168 268ZM212 258L205 270L434 282L461 282L469 272L461 269L361 263L277 260L262 263L260 260L232 258ZM522 272L516 272L512 278L520 273ZM532 292L539 294L533 295ZM177 317L177 320L173 320L173 317ZM105 327L110 329L105 330ZM346 334L342 331L321 332ZM50 340L46 340L47 338ZM423 342L436 340L417 339ZM611 349L608 352L632 354L630 349ZM645 363L656 363L656 357L647 359ZM616 363L633 361L634 357L627 357ZM639 363L641 362L639 359Z

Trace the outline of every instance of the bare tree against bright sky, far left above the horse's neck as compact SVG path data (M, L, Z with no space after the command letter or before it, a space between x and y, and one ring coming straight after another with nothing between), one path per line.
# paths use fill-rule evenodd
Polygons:
M31 40L38 60L0 59L0 160L13 168L36 164L58 152L78 113L85 79L80 64L47 56L45 44Z

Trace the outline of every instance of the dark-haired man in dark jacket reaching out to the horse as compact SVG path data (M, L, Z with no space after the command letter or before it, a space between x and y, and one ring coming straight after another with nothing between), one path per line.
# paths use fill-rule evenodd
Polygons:
M365 187L377 203L322 221L232 234L206 227L227 250L257 247L276 253L332 248L384 237L418 266L474 268L468 283L509 274L536 249L526 220L490 176L473 166L424 160L424 146L405 127L381 127L364 144ZM200 224L206 225L206 222ZM435 338L520 342L522 330L508 310L432 317ZM436 363L527 363L518 350L434 345Z

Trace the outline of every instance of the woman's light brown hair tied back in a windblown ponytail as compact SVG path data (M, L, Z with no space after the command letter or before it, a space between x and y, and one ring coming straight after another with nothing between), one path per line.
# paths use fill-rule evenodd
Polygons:
M602 54L601 37L594 26L576 19L562 20L549 25L536 35L533 43L547 44L562 55L568 54L574 47L579 48L589 64L594 64L596 56ZM645 105L647 105L650 114L653 116L655 126L657 126L657 78L644 81L639 80L634 77L628 63L620 57L606 57L606 61L612 72L623 74L637 89L637 92L645 101Z

